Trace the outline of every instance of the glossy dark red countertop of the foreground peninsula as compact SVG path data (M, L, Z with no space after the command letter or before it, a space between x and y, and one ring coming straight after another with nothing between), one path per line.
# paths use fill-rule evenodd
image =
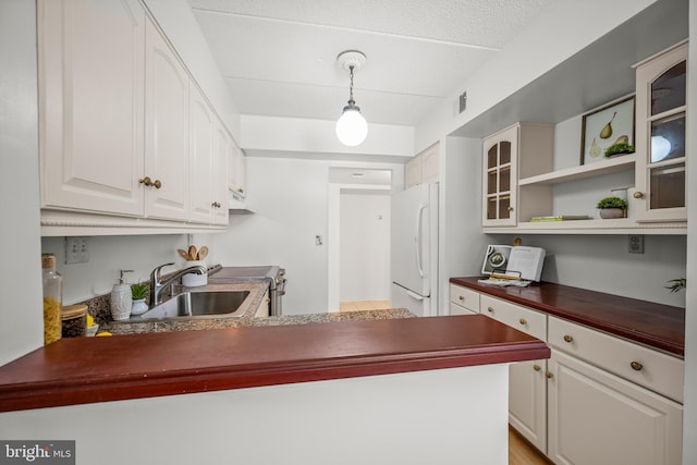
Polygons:
M0 412L549 355L484 315L63 339L0 367Z

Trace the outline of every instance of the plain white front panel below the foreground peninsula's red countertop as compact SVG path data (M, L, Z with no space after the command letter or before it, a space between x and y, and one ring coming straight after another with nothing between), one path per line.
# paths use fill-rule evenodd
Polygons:
M508 464L508 364L0 414L78 464ZM40 462L40 461L39 461Z

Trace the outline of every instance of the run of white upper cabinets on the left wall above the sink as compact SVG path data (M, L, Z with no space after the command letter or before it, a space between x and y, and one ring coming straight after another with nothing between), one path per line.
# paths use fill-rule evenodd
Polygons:
M41 234L223 229L234 143L142 3L37 5Z

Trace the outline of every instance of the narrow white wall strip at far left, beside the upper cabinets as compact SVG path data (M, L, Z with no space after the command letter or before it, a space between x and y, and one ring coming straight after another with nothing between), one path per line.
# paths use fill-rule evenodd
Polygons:
M36 5L0 2L0 365L44 344Z

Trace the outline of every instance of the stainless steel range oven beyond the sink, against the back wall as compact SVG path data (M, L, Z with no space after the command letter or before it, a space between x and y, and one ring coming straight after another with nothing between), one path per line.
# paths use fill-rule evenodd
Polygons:
M279 316L283 311L285 295L285 269L279 266L260 267L213 267L208 271L208 282L231 283L266 281L269 284L269 315Z

